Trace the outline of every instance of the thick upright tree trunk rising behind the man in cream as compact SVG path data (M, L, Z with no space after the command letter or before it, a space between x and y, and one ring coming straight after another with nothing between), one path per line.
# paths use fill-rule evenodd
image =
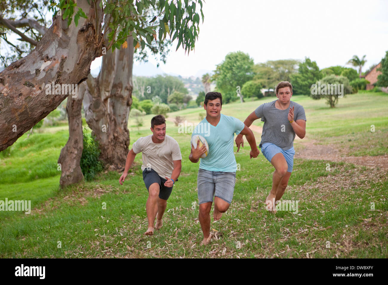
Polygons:
M130 143L128 116L132 105L133 38L128 47L102 57L97 78L89 76L83 98L86 121L100 143L100 159L110 170L123 169Z

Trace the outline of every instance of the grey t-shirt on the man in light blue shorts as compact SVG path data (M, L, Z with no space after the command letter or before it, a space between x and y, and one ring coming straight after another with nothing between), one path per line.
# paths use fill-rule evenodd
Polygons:
M294 107L294 121L307 121L305 109L302 105L290 101L290 105L286 110L279 110L275 107L276 101L264 103L255 110L256 116L262 118L264 122L260 144L273 143L281 149L288 150L293 147L295 138L294 129L288 121L289 108Z

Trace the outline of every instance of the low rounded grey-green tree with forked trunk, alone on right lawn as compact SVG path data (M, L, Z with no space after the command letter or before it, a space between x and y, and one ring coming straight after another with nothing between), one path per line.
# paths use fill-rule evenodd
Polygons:
M320 83L318 83L317 81L315 82L315 86L311 87L311 98L315 100L319 100L320 98L326 98L327 104L329 104L331 108L335 107L335 105L338 103L338 96L340 95L338 85L340 85L340 88L342 88L341 84L343 84L343 90L341 90L341 93L343 92L343 95L352 93L352 87L349 84L348 78L346 78L345 76L336 76L335 74L331 74L320 79L319 81ZM333 89L331 87L333 87ZM320 88L320 90L318 90L318 88Z

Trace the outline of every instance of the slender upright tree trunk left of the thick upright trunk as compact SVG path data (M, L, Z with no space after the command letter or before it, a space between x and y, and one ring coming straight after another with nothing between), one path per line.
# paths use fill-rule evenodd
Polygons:
M82 94L83 92L80 93ZM61 179L59 180L61 186L78 183L83 180L80 167L83 150L81 108L82 95L78 95L76 98L73 98L73 96L68 97L66 111L69 121L69 140L62 148L58 159L62 170Z

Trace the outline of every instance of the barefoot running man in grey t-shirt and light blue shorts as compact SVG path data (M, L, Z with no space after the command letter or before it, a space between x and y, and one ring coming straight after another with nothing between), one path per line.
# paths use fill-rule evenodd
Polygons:
M303 107L290 101L292 85L288 81L280 82L276 88L278 100L257 107L244 121L250 126L253 121L262 118L264 122L262 141L259 147L265 158L271 162L275 171L272 176L272 188L265 204L268 211L275 211L275 202L279 201L287 188L294 164L295 134L304 138L306 134L306 115ZM244 147L241 135L236 138L237 152Z

